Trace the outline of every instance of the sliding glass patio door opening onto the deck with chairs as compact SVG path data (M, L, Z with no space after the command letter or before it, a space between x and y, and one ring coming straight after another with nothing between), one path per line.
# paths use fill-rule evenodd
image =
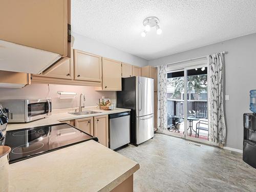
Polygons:
M206 66L168 72L166 134L209 142L207 82Z

